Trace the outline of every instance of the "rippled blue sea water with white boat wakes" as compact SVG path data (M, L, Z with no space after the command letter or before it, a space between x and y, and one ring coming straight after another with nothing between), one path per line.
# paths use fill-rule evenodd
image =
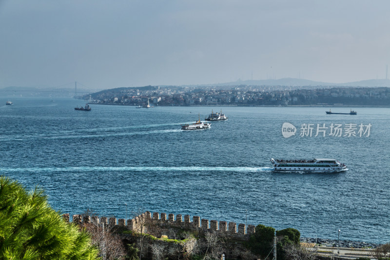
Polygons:
M390 108L222 107L228 121L181 131L220 107L91 105L0 98L0 174L46 190L53 208L128 217L139 208L293 227L303 237L390 240ZM2 105L4 104L4 105ZM332 108L332 111L349 108ZM191 112L191 113L190 113ZM296 136L284 138L290 122ZM313 123L312 137L300 137ZM316 124L371 124L370 137L315 135ZM329 133L329 129L328 129ZM273 173L270 158L334 158L340 173Z

